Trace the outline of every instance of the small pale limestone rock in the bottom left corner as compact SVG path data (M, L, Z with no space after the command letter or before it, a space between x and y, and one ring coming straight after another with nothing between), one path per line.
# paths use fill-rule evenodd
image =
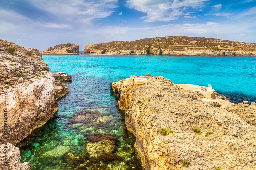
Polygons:
M8 164L5 166L5 152L7 149L8 154ZM7 143L7 148L5 148L5 144L0 146L0 169L3 170L30 170L30 163L24 162L20 163L20 152L19 148L15 147L14 145Z

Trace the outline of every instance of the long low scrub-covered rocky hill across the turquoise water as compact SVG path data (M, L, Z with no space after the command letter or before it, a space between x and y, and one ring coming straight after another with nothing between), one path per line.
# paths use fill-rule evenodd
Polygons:
M198 37L157 37L87 44L88 54L256 56L255 43Z

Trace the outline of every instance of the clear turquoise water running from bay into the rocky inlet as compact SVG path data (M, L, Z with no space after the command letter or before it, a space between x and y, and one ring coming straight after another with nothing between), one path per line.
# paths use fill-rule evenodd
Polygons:
M52 73L67 72L69 93L40 129L19 143L31 169L142 169L109 83L130 75L163 76L177 84L212 84L238 103L256 101L256 57L43 56ZM102 146L104 146L102 148ZM72 168L71 168L72 167Z

